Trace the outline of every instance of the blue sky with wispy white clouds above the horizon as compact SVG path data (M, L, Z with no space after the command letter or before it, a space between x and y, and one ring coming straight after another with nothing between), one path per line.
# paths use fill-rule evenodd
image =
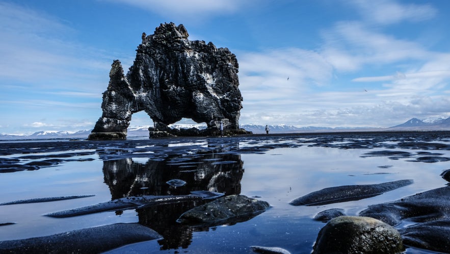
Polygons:
M164 22L236 55L241 124L448 117L449 14L446 0L0 0L0 133L92 129L113 60L126 71Z

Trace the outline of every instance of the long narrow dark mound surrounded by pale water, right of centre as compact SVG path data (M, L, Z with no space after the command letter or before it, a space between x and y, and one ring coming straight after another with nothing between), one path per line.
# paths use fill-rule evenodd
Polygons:
M293 206L320 206L338 202L360 200L374 197L412 184L412 180L399 180L381 184L369 185L344 185L338 187L325 188L311 192L305 196L290 201Z

